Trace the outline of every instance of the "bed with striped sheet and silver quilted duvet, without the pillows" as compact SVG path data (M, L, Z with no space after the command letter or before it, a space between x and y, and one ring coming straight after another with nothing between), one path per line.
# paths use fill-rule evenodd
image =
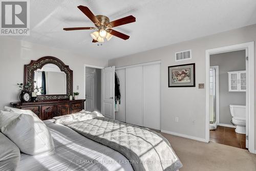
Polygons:
M96 115L71 114L45 120L55 154L22 154L17 170L173 171L182 167L162 135Z

